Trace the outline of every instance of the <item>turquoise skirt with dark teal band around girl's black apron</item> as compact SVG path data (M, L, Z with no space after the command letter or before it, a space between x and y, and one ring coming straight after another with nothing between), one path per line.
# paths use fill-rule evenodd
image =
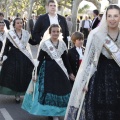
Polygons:
M52 93L45 93L45 65L46 62L44 61L41 65L38 79L35 85L35 93L25 94L22 108L34 115L64 116L70 93L66 94L65 96L59 96L57 94Z

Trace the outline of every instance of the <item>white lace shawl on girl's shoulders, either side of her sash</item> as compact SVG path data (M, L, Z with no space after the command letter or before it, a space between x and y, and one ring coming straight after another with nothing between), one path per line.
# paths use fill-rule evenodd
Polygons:
M50 41L50 39L48 39L48 40ZM48 50L48 48L46 47L44 42L40 45L40 49L42 49L43 51L47 52L47 54L52 58L51 53ZM67 51L66 44L64 43L63 40L59 40L58 49L56 49L56 50L57 50L58 57L61 57L61 55L64 53L64 51Z

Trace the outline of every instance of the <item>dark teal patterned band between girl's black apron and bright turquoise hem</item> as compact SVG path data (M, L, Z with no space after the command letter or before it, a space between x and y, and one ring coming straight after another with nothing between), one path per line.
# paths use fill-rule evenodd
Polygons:
M40 104L43 104L43 105L66 107L70 94L67 94L65 96L57 96L52 93L45 93L45 90L44 90L45 61L43 62L41 69L42 71L40 71L39 77L38 77L38 80L39 80L38 101L40 102Z

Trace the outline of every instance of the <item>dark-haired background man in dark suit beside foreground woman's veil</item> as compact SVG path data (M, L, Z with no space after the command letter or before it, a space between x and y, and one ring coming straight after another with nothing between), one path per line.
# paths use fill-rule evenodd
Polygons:
M92 29L96 28L100 22L99 18L98 18L98 15L99 15L99 11L98 10L93 10L93 16L94 16L94 19L92 21Z

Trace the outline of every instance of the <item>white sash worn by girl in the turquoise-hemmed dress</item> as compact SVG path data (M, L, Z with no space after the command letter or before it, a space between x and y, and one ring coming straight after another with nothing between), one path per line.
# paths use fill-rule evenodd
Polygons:
M45 45L48 48L48 50L50 51L52 58L56 61L56 63L60 66L60 68L64 71L64 73L68 77L68 73L63 64L63 60L62 60L62 58L58 57L57 51L56 51L55 47L53 46L53 44L49 40L47 40L47 41L45 41Z

